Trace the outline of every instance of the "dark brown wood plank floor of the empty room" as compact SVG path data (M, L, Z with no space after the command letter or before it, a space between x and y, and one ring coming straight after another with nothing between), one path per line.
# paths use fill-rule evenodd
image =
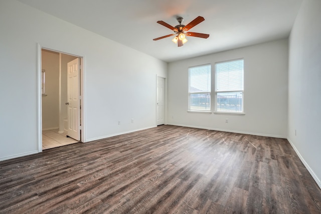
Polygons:
M162 125L0 162L1 213L321 213L286 139Z

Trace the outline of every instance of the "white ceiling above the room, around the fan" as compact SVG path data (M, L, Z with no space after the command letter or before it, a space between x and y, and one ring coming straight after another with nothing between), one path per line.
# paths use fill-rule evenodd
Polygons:
M217 53L287 38L302 0L19 0L43 12L102 35L165 62ZM188 37L177 47L173 32L162 20L187 25L198 16L205 21L191 32L208 39ZM88 38L90 39L90 38Z

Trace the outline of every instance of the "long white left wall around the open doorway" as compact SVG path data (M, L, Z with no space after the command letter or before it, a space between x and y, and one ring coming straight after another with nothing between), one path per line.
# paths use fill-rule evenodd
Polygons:
M15 0L0 2L0 29L0 160L38 152L37 43L84 57L83 141L156 125L167 63Z

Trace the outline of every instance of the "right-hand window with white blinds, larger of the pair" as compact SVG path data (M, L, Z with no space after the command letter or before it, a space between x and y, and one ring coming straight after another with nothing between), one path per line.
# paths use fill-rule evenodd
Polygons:
M215 64L215 111L238 112L243 110L244 60Z

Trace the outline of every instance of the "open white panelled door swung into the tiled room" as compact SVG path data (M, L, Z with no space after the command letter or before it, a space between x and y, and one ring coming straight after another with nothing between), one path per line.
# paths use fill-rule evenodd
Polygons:
M80 140L80 59L77 58L67 65L68 136Z

